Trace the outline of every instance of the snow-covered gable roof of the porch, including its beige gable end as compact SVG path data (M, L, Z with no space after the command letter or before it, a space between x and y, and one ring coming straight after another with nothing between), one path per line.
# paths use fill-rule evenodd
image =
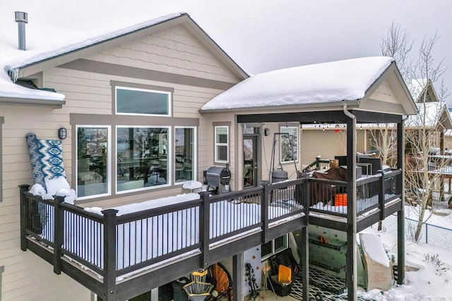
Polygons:
M384 102L374 93L383 80L390 80L397 86L391 90L396 100L387 102L386 111L378 108ZM254 75L219 94L201 111L278 107L310 108L314 111L314 108L344 104L349 108L370 111L417 113L395 62L384 56L319 63Z

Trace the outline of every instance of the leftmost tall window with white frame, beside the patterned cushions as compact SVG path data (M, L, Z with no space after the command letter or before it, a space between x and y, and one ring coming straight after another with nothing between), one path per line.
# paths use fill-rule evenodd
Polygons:
M80 125L77 130L77 196L109 195L109 126Z

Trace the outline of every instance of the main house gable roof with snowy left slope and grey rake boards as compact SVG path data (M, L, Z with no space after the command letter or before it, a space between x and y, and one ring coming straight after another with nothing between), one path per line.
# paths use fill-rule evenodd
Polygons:
M201 27L194 22L187 13L174 13L143 23L124 27L119 30L105 32L102 34L84 37L69 44L60 44L52 47L43 47L43 49L33 49L32 51L21 51L14 49L11 58L3 58L0 62L4 67L4 73L0 72L0 102L28 102L34 103L59 102L64 103L64 95L59 93L30 90L26 87L15 85L12 80L25 78L27 76L41 72L48 68L59 66L84 56L95 54L103 49L117 46L133 39L139 39L153 32L163 30L167 27L183 25L191 34L201 41L203 46L213 52L215 57L229 68L237 78L245 79L249 75L237 63L221 49L218 44L211 39ZM16 33L14 33L16 35ZM46 43L42 43L46 46ZM0 47L4 47L0 44ZM11 44L6 47L12 47ZM1 50L1 49L0 49ZM8 49L11 53L11 49ZM14 57L13 57L14 56Z

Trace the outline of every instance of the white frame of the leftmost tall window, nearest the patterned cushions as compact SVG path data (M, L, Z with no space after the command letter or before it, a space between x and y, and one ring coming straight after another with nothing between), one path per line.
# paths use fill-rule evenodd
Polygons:
M76 195L77 195L77 200L85 200L85 199L95 199L95 198L99 198L99 197L109 197L110 195L112 195L112 125L75 125L75 130L76 133L74 135L75 137L75 146L76 146L76 152L75 152L75 162L76 162L76 185L75 185L75 190L76 190ZM88 195L88 196L84 196L84 197L78 197L78 128L107 128L108 130L108 134L107 134L107 141L108 141L108 147L107 147L107 166L109 168L109 171L107 171L107 192L106 193L101 193L99 195Z

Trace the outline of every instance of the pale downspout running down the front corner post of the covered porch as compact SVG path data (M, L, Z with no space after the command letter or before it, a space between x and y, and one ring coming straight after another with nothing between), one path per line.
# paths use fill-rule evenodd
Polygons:
M356 116L350 113L350 111L347 110L347 104L344 104L343 111L347 117L352 119L353 123L355 124L355 127L353 128L353 139L352 142L356 142ZM350 130L347 126L347 132ZM348 149L348 143L347 141L347 149ZM347 152L347 156L348 156ZM356 143L352 145L352 160L355 161L356 164ZM347 160L348 163L348 160ZM354 164L354 165L355 165ZM347 176L350 172L350 169L347 168ZM347 189L348 194L352 194L352 197L349 197L349 200L352 200L352 202L349 202L347 204L347 267L346 270L346 282L347 282L347 299L348 300L357 300L357 242L356 242L356 234L357 234L357 218L356 218L356 169L354 168L352 170L352 188L351 191ZM348 178L348 177L347 177ZM348 179L350 180L350 178ZM352 255L352 257L349 257L349 254ZM351 266L350 266L351 265Z

